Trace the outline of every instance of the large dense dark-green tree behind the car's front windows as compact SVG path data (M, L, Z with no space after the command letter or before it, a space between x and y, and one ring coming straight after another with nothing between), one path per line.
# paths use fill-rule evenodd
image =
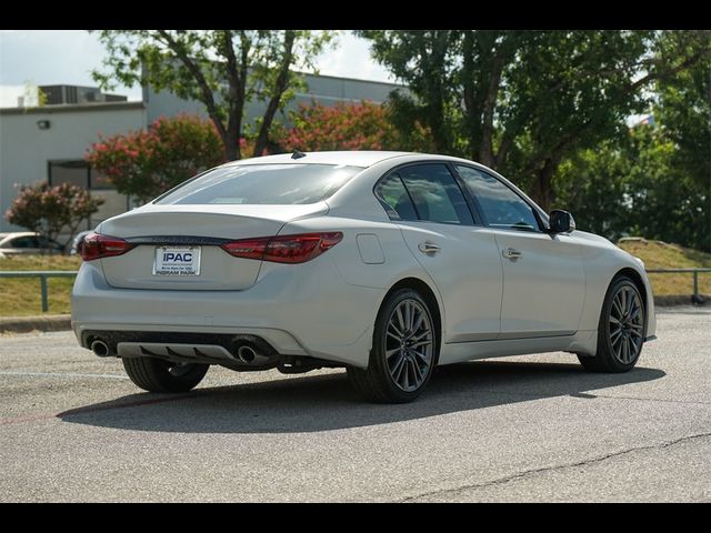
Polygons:
M711 53L711 32L620 30L365 30L372 53L409 94L398 123L420 121L443 153L482 162L545 209L552 179L577 150L621 134Z

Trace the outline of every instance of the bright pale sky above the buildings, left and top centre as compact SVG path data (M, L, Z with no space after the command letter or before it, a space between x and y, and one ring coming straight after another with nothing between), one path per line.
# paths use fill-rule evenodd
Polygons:
M371 59L365 40L341 31L337 43L318 59L321 74L394 81ZM0 108L16 107L28 83L96 86L91 70L104 53L98 37L84 30L0 30ZM138 87L111 92L141 99Z

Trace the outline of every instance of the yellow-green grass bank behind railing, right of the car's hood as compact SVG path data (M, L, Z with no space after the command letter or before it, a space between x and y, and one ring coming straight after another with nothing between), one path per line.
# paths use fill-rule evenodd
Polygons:
M640 258L648 269L711 268L711 253L691 250L661 241L623 241L622 250ZM649 274L654 295L678 295L693 293L692 274ZM711 294L711 272L699 274L699 292Z

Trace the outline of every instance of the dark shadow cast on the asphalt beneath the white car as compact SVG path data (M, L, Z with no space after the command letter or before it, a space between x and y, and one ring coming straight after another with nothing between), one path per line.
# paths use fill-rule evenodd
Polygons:
M57 416L73 424L151 432L316 432L554 396L594 399L595 391L664 375L645 368L592 374L579 364L479 361L438 368L428 390L409 404L365 403L352 391L346 373L331 373L203 388L180 395L130 394Z

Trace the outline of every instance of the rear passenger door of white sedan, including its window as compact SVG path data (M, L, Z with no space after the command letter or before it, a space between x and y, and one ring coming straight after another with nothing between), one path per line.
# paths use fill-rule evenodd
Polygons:
M502 265L497 241L474 220L449 168L412 164L380 181L377 195L442 295L443 342L495 339Z

